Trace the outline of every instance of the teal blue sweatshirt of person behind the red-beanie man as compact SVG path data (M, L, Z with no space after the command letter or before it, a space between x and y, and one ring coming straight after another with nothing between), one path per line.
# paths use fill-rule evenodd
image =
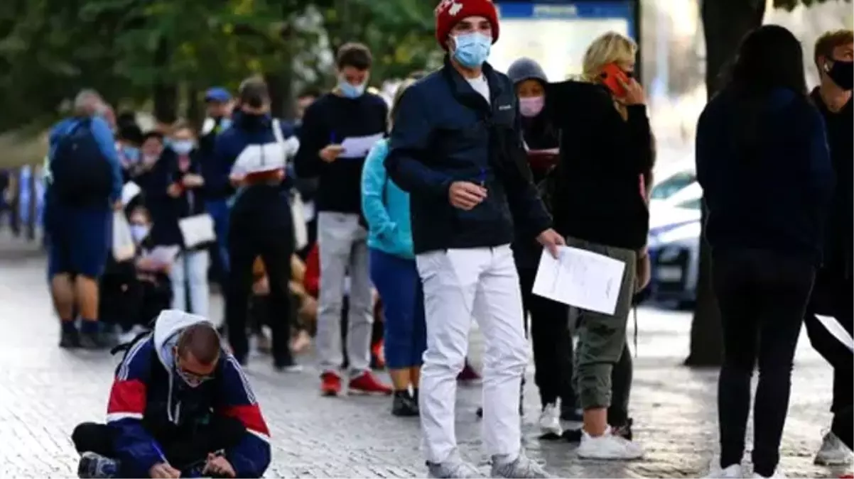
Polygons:
M362 168L362 213L368 222L368 246L396 257L414 258L409 193L386 174L383 162L388 154L389 141L377 141Z

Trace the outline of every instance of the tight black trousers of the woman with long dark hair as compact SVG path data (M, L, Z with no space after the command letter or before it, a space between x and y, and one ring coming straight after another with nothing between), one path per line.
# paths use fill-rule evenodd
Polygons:
M723 326L717 390L721 467L740 464L744 455L758 360L753 466L760 476L773 476L780 461L795 346L816 270L805 259L737 250L713 254L712 272Z

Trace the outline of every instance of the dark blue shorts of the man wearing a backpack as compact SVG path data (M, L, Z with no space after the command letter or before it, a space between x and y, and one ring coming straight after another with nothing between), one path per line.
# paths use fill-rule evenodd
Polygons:
M107 265L113 212L103 207L48 205L48 275L80 274L97 279Z

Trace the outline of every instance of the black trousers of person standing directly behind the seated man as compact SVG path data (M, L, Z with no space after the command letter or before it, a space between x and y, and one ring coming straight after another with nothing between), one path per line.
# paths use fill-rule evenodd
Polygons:
M294 253L290 228L274 229L231 228L228 251L231 261L228 294L225 297L225 325L231 349L237 361L246 361L249 338L246 335L249 315L249 295L252 294L252 265L261 257L270 283L266 300L268 321L272 332L272 358L275 366L290 366L290 257ZM232 227L235 226L232 222ZM257 228L257 226L256 226Z

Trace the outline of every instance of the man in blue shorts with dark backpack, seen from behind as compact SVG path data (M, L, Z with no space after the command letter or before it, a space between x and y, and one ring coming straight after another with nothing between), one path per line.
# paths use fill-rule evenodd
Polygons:
M105 110L95 91L81 91L74 116L50 131L44 230L50 236L48 276L61 348L108 345L98 321L98 278L109 254L110 207L121 208L122 176Z

